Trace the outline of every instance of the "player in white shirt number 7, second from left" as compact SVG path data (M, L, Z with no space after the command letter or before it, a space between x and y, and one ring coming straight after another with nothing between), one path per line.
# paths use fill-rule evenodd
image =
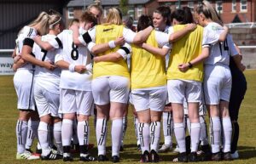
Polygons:
M60 14L49 15L49 34L42 37L44 41L54 39L63 29ZM44 68L44 62L54 64L55 54L57 51L52 49L46 51L41 49L37 44L34 44L31 38L26 38L26 47L23 49L22 59L37 65L35 71L34 95L40 116L38 126L38 139L42 147L42 160L56 160L61 156L53 152L49 145L49 126L54 122L53 134L59 154L62 154L61 143L61 118L58 114L60 105L60 76L61 69L55 68L55 65L48 70ZM32 54L35 55L33 57Z

